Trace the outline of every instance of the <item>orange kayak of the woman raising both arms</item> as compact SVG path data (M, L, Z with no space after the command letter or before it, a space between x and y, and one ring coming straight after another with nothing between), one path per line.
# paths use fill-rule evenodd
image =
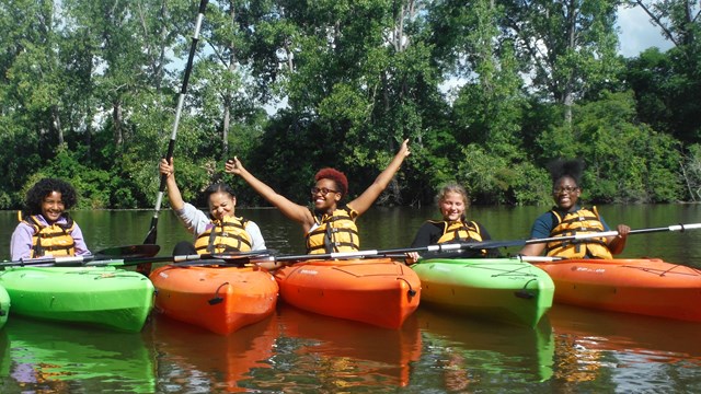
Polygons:
M418 308L418 277L390 258L309 260L275 278L283 301L326 316L397 329Z

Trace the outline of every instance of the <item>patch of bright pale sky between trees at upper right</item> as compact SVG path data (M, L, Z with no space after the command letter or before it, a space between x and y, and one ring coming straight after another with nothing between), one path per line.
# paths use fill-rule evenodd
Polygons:
M635 57L641 51L657 47L665 51L671 48L673 44L665 39L660 28L650 22L650 16L640 7L618 8L619 27L619 54L624 57Z

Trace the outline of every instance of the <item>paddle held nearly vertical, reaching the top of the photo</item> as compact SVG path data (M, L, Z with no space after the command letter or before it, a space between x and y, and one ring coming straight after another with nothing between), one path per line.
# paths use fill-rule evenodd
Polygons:
M195 34L193 34L192 44L189 46L189 55L187 56L187 63L185 65L185 74L183 77L183 85L180 91L180 95L177 97L177 108L175 109L175 120L173 121L173 131L171 134L171 140L168 143L168 153L165 154L165 160L169 162L173 158L173 150L175 149L175 137L177 136L177 125L180 124L180 117L183 111L183 102L185 101L185 94L187 93L187 81L189 80L189 73L193 69L193 59L195 58L195 50L197 48L197 42L199 40L199 27L202 26L202 21L205 16L205 9L207 8L208 0L200 0L199 10L197 13L197 22L195 23ZM165 190L165 181L166 175L161 175L161 184L159 186L159 192L156 197L156 208L153 209L153 217L151 218L151 225L149 232L146 234L146 240L143 240L145 244L156 244L156 239L158 235L158 215L161 210L161 202L163 201L163 192ZM142 266L137 267L137 271L141 273L146 276L151 271L151 265L145 264Z

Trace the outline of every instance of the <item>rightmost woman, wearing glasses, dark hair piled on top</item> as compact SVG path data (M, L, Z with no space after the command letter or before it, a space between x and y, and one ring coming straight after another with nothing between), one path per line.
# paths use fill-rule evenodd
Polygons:
M609 225L596 207L579 206L582 195L581 178L584 163L581 160L558 160L549 165L552 177L552 197L556 204L552 210L536 219L531 229L531 239L570 236L575 234L610 231ZM585 237L581 240L532 243L521 248L525 256L547 256L566 258L612 258L625 247L631 228L617 227L618 235Z

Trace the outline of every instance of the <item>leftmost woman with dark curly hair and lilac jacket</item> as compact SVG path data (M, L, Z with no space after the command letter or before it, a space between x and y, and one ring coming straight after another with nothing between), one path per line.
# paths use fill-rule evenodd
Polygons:
M80 227L66 212L76 202L76 189L65 181L43 178L34 184L12 233L12 259L90 255Z

